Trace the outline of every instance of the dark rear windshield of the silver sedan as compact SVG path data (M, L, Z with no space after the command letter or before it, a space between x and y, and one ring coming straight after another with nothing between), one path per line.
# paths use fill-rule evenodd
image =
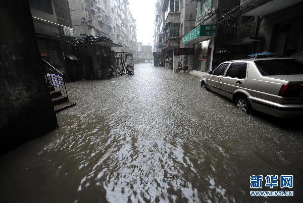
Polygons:
M303 65L293 59L260 60L255 64L264 76L303 74Z

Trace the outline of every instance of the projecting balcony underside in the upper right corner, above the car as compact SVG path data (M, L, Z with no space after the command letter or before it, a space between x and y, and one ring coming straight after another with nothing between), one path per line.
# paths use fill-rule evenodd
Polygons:
M241 0L241 3L245 3ZM266 16L292 5L301 3L302 0L251 0L241 5L244 16Z

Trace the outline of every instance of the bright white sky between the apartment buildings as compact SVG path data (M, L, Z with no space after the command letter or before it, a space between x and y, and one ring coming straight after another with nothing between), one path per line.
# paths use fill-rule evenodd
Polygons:
M137 41L153 44L156 0L128 0L129 9L136 19Z

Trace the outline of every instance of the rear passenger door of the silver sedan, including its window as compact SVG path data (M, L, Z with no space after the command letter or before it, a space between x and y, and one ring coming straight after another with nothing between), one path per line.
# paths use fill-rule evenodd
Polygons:
M231 63L225 75L222 77L221 89L227 97L232 97L236 89L243 87L247 78L247 63Z

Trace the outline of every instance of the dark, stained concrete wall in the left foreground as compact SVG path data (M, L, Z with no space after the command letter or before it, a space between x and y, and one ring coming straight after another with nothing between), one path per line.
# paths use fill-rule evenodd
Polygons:
M0 153L57 126L28 0L0 4Z

